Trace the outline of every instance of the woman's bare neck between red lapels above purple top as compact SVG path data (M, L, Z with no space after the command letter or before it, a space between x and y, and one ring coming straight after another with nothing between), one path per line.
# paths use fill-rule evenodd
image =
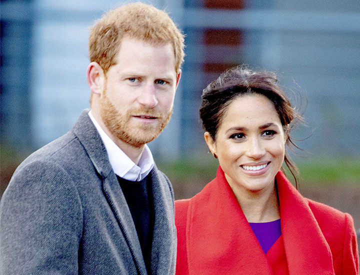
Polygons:
M232 190L248 222L268 222L280 218L275 184L259 191Z

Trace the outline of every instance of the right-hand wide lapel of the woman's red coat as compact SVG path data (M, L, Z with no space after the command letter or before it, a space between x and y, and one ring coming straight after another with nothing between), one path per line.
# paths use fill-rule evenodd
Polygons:
M276 175L281 231L290 274L335 274L330 248L306 199L282 172Z

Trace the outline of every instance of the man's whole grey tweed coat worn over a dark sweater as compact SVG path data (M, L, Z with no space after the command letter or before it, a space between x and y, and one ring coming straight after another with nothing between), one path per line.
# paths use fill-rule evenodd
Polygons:
M131 213L87 112L14 172L0 201L1 275L146 274ZM172 187L156 167L150 176L151 274L174 274Z

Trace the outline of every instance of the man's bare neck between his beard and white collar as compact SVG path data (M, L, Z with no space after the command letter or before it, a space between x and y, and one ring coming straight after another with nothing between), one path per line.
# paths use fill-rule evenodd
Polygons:
M145 147L145 145L141 145L140 147L134 147L124 141L122 141L121 139L117 138L116 136L114 136L108 129L107 127L104 125L104 123L102 122L102 119L99 115L99 113L97 112L96 108L91 108L91 113L93 115L93 117L96 119L97 123L100 125L101 129L111 138L111 140L113 142L115 142L115 144L137 165L140 158L141 158L141 154L143 152L143 149Z

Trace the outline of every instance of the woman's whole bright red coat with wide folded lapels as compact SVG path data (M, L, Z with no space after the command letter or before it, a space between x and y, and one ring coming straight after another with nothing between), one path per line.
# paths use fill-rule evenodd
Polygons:
M358 274L353 220L304 198L276 175L281 237L264 254L221 167L190 199L175 201L176 274Z

